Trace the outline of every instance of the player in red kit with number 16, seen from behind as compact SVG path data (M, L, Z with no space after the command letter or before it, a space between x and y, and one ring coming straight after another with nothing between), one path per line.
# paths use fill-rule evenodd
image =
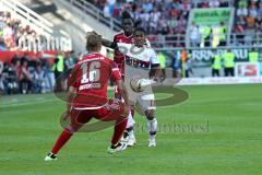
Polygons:
M51 152L45 161L57 159L59 150L70 140L72 135L81 131L84 124L93 117L102 122L115 121L115 131L111 138L111 145L108 147L109 153L122 151L127 148L126 143L120 143L120 138L127 127L129 112L129 100L126 88L121 80L121 74L117 65L109 58L99 54L102 38L98 35L90 34L86 40L88 55L84 56L73 68L69 81L68 117L71 122L59 136ZM108 80L112 79L124 104L119 101L108 101L107 86Z

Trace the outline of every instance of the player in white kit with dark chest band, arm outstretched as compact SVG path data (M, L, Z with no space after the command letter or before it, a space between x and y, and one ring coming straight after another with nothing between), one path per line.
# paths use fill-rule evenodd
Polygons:
M133 32L134 44L116 43L104 39L111 48L121 51L126 58L124 85L129 92L129 100L136 104L147 118L147 130L150 133L148 147L155 147L155 136L157 131L157 120L155 118L155 96L152 88L147 86L145 91L135 93L130 86L130 81L134 75L143 79L160 80L160 65L155 51L145 46L145 31L138 27Z

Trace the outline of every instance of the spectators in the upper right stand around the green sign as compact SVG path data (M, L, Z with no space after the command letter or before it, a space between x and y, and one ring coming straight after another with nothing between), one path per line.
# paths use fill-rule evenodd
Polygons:
M141 26L146 30L148 38L157 47L184 46L188 16L192 8L235 7L233 33L240 34L237 35L237 39L243 40L241 44L245 45L252 40L254 32L262 31L262 0L93 0L91 2L98 7L105 16L119 21L121 12L128 10L136 21L141 21ZM191 30L194 32L193 39L199 39L200 46L201 27L198 28L199 35L195 26ZM212 37L211 33L210 38ZM224 45L225 43L221 42L219 46Z

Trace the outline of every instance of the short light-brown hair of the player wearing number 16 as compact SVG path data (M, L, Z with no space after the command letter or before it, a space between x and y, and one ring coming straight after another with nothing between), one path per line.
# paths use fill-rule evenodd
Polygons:
M96 51L102 47L102 36L96 34L88 34L86 36L86 49L88 51Z

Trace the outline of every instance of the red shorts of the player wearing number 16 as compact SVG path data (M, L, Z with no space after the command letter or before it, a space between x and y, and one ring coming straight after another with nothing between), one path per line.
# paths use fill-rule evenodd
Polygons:
M124 105L119 101L109 101L108 105L99 109L72 109L70 112L71 127L74 131L76 131L92 118L96 118L102 121L118 120L119 117L123 117L123 113Z

